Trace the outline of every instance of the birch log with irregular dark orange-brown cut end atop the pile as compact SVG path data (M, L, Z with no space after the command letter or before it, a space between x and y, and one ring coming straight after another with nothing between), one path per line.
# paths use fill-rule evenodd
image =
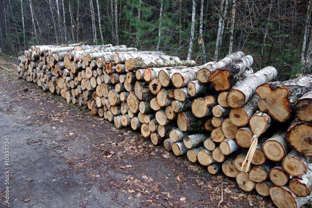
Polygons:
M210 83L217 91L230 89L245 70L251 66L253 58L244 56L231 65L219 68L209 76Z

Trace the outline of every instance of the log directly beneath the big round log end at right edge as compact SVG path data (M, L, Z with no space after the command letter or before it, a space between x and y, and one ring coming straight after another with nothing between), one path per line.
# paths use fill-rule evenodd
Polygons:
M307 173L307 164L310 157L302 156L294 149L283 159L284 170L292 176L300 176Z

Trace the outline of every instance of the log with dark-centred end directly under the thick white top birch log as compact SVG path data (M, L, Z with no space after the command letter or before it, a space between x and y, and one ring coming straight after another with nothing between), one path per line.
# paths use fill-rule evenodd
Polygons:
M258 109L256 103L259 100L260 97L255 94L245 105L239 108L233 108L229 113L231 122L236 126L245 126L248 123L249 118Z

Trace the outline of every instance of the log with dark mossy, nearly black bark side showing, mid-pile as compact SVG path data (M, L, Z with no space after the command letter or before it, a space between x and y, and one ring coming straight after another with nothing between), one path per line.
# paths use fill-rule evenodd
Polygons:
M207 118L198 119L191 111L185 111L178 114L178 128L181 131L202 131L204 122Z

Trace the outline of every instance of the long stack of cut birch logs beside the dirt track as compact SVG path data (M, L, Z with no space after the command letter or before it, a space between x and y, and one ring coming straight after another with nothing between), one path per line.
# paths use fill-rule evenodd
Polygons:
M276 69L253 73L252 63L241 51L196 66L124 45L32 46L18 76L278 207L300 207L312 189L312 75L271 82Z

